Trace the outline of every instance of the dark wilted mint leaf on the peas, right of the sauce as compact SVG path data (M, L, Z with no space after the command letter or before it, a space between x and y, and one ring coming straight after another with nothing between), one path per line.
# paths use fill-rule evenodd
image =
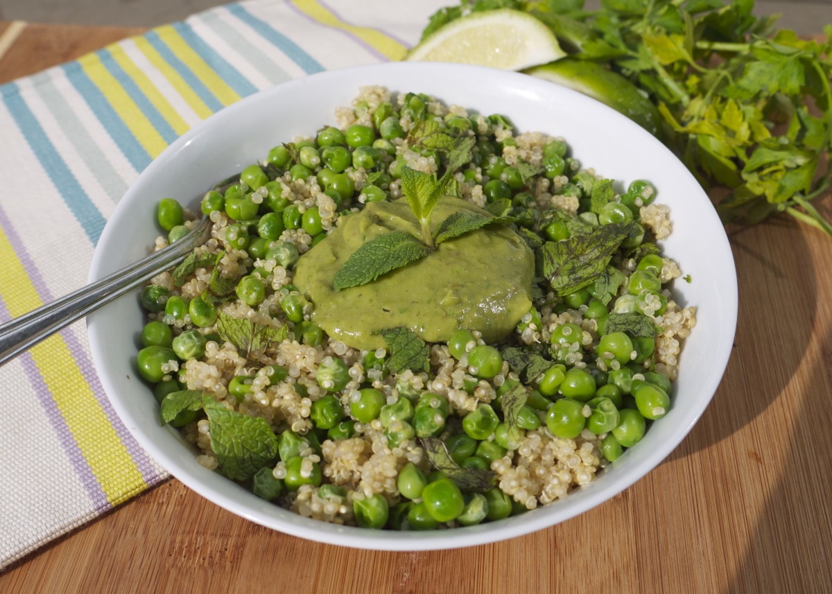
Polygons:
M537 270L557 295L567 295L595 282L612 255L638 225L634 221L597 227L591 234L547 241L537 250Z

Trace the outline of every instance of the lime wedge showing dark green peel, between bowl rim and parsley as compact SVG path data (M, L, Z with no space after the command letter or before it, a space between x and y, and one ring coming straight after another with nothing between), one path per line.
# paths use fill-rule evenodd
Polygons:
M653 136L659 135L661 116L656 106L630 81L601 64L565 58L523 72L582 92L621 112Z

